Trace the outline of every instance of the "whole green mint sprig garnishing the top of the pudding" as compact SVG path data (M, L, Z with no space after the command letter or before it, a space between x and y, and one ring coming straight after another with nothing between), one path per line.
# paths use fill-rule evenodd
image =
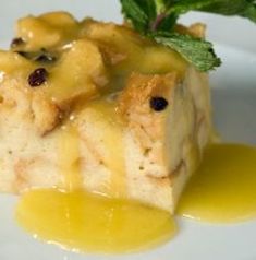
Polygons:
M256 22L256 0L120 0L125 20L146 37L176 50L199 71L221 64L212 44L174 31L180 15L204 11Z

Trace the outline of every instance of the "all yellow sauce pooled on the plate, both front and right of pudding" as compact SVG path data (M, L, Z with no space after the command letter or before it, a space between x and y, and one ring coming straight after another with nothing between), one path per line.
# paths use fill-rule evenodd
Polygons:
M211 223L254 218L255 187L254 147L211 145L181 198L178 214ZM21 226L40 239L77 251L148 249L178 232L168 212L80 189L29 191L22 197L16 217Z

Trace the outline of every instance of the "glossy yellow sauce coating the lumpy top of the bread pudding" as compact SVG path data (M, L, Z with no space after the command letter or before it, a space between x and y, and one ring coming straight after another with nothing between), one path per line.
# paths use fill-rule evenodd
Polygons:
M125 26L90 19L78 22L65 12L19 20L16 37L24 43L11 51L0 51L0 81L5 74L26 80L36 68L44 67L48 76L41 90L60 106L78 96L92 99L105 91L115 92L134 71L174 71L184 78L187 69L178 52ZM52 60L38 61L41 56Z

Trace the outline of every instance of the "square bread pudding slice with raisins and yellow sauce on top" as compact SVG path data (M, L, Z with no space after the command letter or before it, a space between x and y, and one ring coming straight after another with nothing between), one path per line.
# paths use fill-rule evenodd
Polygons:
M56 12L16 31L0 52L0 191L83 188L173 213L210 139L208 75L122 25Z

